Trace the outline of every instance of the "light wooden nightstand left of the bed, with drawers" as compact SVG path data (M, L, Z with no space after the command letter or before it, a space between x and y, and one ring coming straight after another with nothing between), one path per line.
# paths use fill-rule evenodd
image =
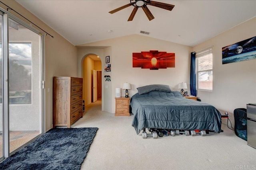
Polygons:
M115 97L116 99L116 112L115 116L130 116L129 105L130 97Z

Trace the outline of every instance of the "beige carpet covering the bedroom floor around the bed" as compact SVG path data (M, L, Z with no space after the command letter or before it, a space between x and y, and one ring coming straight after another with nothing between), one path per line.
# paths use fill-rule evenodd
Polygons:
M133 117L101 111L100 101L72 127L98 127L82 170L244 170L256 169L256 149L222 125L224 132L142 139Z

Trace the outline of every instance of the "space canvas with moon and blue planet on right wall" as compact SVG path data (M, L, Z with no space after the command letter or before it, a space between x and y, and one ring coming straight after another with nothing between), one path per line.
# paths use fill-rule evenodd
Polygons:
M222 48L222 64L256 59L256 37Z

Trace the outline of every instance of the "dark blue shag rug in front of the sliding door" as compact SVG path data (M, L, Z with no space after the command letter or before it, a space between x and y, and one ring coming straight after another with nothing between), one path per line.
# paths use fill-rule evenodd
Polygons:
M51 129L0 163L0 170L80 170L97 130Z

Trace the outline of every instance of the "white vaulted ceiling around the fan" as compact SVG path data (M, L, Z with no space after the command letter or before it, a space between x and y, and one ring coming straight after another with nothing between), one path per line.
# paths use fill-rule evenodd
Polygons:
M175 7L168 11L148 5L153 20L139 8L127 21L133 6L108 12L130 0L16 0L73 45L140 34L193 47L256 16L256 0L155 1Z

